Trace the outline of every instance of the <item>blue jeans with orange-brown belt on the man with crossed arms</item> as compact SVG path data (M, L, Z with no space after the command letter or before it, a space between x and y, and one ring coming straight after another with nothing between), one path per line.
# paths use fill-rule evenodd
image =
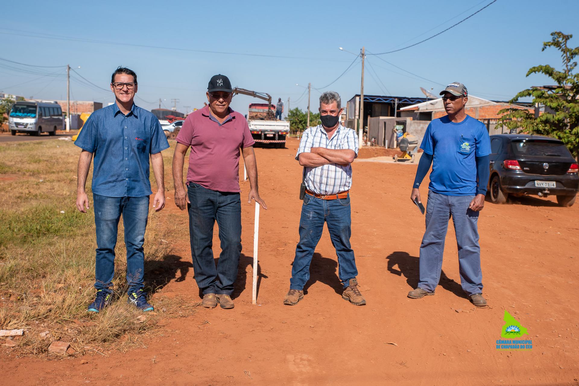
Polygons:
M310 263L320 241L324 222L328 224L329 237L338 256L338 277L344 288L356 278L356 260L350 247L351 219L350 194L340 200L322 200L306 194L303 198L302 216L299 220L299 242L295 248L294 266L291 270L290 289L303 290L310 278Z

